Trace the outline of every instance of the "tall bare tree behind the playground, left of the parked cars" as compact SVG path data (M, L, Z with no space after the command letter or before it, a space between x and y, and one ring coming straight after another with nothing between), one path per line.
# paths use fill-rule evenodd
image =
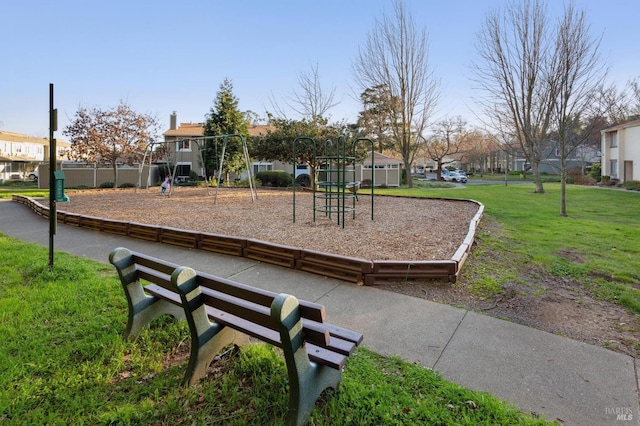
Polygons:
M397 100L390 114L391 129L395 150L407 170L407 186L413 187L411 166L438 100L440 82L428 61L426 31L416 27L402 1L394 1L391 16L383 14L374 22L353 71L362 91L382 86Z

